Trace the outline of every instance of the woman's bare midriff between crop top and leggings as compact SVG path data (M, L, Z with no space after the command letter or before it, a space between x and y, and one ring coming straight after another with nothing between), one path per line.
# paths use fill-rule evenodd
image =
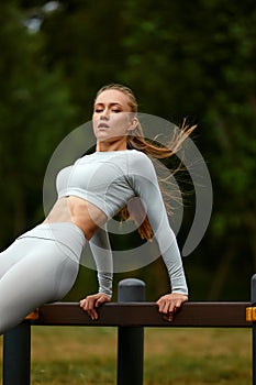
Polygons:
M90 240L105 221L105 213L97 206L82 198L68 196L56 201L44 223L73 222Z

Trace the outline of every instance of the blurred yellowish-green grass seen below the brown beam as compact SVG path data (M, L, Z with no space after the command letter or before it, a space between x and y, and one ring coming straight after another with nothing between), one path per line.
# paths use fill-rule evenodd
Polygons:
M144 385L252 383L251 329L145 329ZM116 329L34 327L32 385L114 385Z

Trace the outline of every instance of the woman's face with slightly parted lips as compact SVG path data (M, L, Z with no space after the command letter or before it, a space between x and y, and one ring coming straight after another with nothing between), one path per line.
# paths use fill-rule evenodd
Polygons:
M107 89L97 97L92 116L97 142L126 143L129 131L135 128L136 122L124 92Z

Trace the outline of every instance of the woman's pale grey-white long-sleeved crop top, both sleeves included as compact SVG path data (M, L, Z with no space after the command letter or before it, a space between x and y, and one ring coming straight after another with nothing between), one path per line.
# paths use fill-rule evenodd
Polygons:
M166 264L172 293L188 294L181 256L170 229L152 161L136 150L96 152L85 155L57 176L58 198L77 196L112 218L133 197L140 197L159 252ZM100 229L90 240L100 293L112 294L111 249L108 232Z

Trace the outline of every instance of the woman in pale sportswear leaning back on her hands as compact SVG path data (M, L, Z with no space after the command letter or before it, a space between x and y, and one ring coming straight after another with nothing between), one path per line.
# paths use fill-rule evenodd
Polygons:
M58 199L47 218L0 254L1 333L34 308L59 300L70 290L87 241L97 264L99 292L82 299L80 307L91 319L98 318L97 308L112 295L107 222L119 211L126 218L126 204L134 196L143 202L141 210L134 211L138 221L137 212L144 215L140 234L146 240L154 234L170 277L171 293L156 302L159 311L172 320L188 300L180 253L147 155L172 155L192 128L185 128L172 141L172 150L160 148L143 138L136 110L134 95L124 86L109 85L97 94L92 116L96 152L60 170Z

